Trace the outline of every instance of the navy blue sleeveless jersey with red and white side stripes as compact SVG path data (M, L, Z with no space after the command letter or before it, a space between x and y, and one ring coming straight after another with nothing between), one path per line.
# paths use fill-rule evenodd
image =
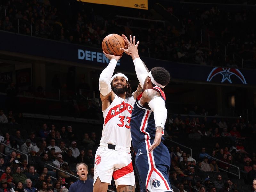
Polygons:
M157 91L165 101L165 94L160 87L155 86L151 89ZM153 111L149 107L146 108L140 105L142 93L135 100L131 117L132 146L135 151L142 141L154 139L156 133ZM162 132L162 135L163 134L164 130ZM162 141L163 140L164 138L162 137Z

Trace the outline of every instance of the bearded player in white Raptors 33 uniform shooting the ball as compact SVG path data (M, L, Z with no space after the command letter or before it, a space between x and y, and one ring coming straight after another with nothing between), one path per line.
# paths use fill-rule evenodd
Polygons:
M93 192L106 192L112 176L117 192L134 192L130 119L134 97L142 90L139 85L131 94L128 78L124 74L117 73L112 76L120 56L108 55L105 52L104 54L110 63L99 78L104 124L100 147L95 154Z

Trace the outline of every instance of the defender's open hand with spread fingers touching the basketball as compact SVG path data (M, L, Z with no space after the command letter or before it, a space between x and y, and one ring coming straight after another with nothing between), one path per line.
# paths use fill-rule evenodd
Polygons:
M127 55L132 56L132 59L136 59L139 57L138 55L138 45L139 45L139 41L135 40L135 36L133 36L133 40L132 40L132 36L130 35L130 41L128 40L128 38L122 34L122 37L124 39L124 42L127 46L125 46L126 49L124 48L120 48L120 50L124 51ZM136 43L136 44L135 44Z

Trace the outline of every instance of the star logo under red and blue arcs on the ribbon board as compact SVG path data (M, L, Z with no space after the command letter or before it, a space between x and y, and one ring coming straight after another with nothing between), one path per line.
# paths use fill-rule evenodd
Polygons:
M218 75L222 75L221 83L228 81L232 84L233 82L231 78L233 78L233 76L236 76L243 84L247 84L243 74L238 69L221 67L213 68L210 74L208 75L207 81L212 81L212 79Z

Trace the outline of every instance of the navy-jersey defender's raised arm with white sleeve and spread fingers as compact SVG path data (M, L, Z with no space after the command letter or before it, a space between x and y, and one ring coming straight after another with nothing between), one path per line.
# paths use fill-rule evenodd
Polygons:
M133 40L132 40L131 35L130 35L130 41L127 39L127 37L125 35L122 35L122 37L123 37L125 43L127 44L127 49L121 48L121 50L123 50L127 55L130 55L132 57L136 75L140 82L137 90L132 93L133 97L136 98L141 92L143 92L142 88L144 85L144 81L148 76L149 71L148 71L148 68L146 67L145 63L139 57L139 54L138 54L139 41L136 43L135 36L133 36Z

